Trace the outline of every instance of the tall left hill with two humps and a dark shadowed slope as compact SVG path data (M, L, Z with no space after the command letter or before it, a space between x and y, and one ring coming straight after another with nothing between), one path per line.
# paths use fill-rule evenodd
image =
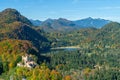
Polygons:
M14 9L0 13L0 39L28 40L40 51L49 48L49 41L32 29L31 22ZM10 21L10 22L9 22Z

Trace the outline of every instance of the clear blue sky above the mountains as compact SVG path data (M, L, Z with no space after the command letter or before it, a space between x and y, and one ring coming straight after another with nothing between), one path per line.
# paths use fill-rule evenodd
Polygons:
M34 20L93 17L120 22L120 0L0 0L0 11L6 8Z

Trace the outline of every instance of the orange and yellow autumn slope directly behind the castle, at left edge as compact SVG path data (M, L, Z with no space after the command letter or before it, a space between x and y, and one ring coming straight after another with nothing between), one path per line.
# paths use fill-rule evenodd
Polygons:
M0 74L16 67L22 55L35 55L36 53L37 49L27 40L0 41Z

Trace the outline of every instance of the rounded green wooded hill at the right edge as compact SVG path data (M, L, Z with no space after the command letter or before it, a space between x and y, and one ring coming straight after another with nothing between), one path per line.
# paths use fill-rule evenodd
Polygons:
M111 22L101 28L95 36L95 42L101 43L103 46L120 46L120 23Z

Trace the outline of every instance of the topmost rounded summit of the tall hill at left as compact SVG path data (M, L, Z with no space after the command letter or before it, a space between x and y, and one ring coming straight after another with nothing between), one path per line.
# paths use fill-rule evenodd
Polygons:
M21 15L15 9L7 8L0 12L0 23L12 23L15 21L32 25L32 23L26 17Z

